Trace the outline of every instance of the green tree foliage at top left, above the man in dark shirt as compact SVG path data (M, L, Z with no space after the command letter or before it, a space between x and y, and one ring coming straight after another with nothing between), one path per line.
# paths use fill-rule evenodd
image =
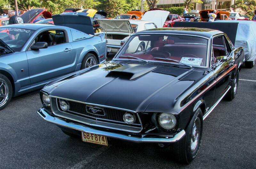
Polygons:
M9 0L10 4L12 5L12 8L15 9L15 2L14 0ZM39 0L17 0L18 8L20 10L30 10L31 7L40 7L40 1Z

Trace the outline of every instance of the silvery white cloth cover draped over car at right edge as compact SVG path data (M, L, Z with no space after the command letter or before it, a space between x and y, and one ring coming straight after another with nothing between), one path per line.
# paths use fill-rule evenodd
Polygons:
M235 47L243 46L245 61L256 59L256 22L250 20L216 20L214 22L238 22Z

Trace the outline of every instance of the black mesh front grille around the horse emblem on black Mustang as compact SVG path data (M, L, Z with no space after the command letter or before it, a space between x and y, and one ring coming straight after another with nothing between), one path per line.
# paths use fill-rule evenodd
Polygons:
M69 109L68 113L76 114L76 115L80 115L80 116L87 116L87 117L90 117L93 119L103 119L103 120L106 119L106 120L124 123L123 115L127 112L127 111L113 109L113 108L100 107L100 108L104 109L104 111L105 111L105 116L100 116L100 115L88 113L86 111L86 105L87 106L93 106L93 105L78 103L78 102L74 102L74 101L68 101L68 103L70 105L70 109ZM99 107L99 106L97 106L97 107ZM129 112L129 113L131 113L131 112ZM140 124L138 116L135 114L134 114L134 116L136 117L136 121L134 124Z

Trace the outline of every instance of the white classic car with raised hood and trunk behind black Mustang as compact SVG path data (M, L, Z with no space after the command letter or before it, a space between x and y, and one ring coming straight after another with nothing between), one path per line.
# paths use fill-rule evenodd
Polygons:
M97 19L97 21L106 34L108 52L116 53L133 33L162 27L169 13L156 10L146 12L141 20ZM146 47L145 42L133 43L133 45L134 47L130 49L134 51L131 52L142 51Z

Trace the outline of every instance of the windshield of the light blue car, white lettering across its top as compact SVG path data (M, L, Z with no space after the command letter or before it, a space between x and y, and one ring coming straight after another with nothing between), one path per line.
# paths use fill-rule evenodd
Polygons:
M35 31L20 28L0 28L0 39L15 52L20 51Z

